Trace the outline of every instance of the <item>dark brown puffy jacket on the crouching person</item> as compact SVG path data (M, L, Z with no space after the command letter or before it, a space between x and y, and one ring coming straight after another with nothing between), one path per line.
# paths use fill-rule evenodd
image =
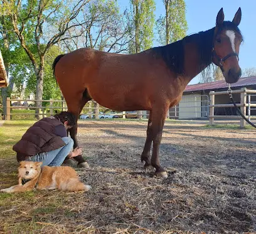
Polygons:
M50 117L43 118L29 127L20 141L14 146L17 161L23 161L26 156L34 156L40 152L53 151L65 146L60 136L56 136L55 127L63 125L60 120Z

